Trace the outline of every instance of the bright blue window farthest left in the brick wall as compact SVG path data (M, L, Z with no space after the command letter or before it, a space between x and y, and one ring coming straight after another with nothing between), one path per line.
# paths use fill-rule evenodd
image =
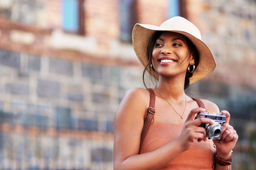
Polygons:
M62 16L65 31L84 34L84 0L62 0Z

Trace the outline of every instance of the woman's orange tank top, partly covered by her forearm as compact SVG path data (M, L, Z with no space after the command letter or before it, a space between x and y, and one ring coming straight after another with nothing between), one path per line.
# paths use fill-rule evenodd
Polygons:
M182 128L182 124L154 122L148 130L140 153L154 151L178 138ZM189 150L179 154L163 169L213 169L215 163L214 154L215 148L212 140L194 142L194 145Z

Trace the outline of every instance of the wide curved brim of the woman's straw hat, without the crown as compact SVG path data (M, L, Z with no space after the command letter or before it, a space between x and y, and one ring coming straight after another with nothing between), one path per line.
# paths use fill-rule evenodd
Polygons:
M194 37L193 35L187 33L186 31L175 30L175 29L165 29L160 28L155 25L147 24L136 24L133 28L133 48L136 52L139 61L143 64L144 67L148 64L148 55L147 55L147 46L150 38L156 31L172 31L179 34L183 34L194 43L194 46L197 47L199 52L199 64L197 69L194 70L193 76L190 77L190 84L197 82L197 80L202 79L207 76L209 73L212 73L216 67L216 61L212 55L212 51L202 40ZM149 70L148 70L149 71ZM158 79L158 74L156 72L151 73L155 79Z

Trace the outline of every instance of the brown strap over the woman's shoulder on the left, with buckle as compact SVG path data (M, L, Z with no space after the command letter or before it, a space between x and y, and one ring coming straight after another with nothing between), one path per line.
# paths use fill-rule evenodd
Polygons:
M156 100L156 96L154 94L154 91L152 88L148 88L148 91L150 92L150 100L149 100L149 107L148 107L148 111L145 115L145 119L144 119L144 126L142 129L142 135L141 135L141 143L140 145L142 146L142 143L145 139L146 134L148 133L148 129L151 126L152 120L154 118L154 114L155 114L155 109L154 109L154 103Z

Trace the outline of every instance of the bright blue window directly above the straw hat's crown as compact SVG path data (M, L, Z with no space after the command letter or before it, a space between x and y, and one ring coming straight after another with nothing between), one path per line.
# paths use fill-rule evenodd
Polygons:
M185 2L184 0L169 0L169 17L184 16Z

